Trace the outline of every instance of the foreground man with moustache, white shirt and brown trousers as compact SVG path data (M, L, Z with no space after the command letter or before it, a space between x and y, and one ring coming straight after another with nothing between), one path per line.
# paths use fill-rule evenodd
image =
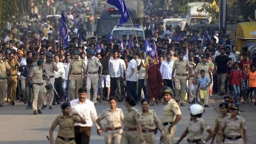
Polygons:
M75 123L75 141L76 144L89 144L91 137L91 127L94 123L97 127L97 133L102 133L96 120L98 119L94 103L87 99L86 88L81 87L78 90L78 99L70 101L74 113L78 113L85 118L86 124Z

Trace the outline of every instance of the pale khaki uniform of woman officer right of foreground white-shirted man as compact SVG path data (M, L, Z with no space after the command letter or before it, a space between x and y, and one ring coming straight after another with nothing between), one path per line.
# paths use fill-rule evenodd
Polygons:
M121 108L116 108L112 111L110 108L105 109L100 116L99 120L106 119L106 130L104 141L105 144L120 144L123 130L121 129L121 122L124 121L124 113Z

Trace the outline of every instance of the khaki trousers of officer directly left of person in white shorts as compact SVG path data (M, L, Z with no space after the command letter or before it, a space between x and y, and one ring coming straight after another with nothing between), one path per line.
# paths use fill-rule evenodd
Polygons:
M99 75L98 74L87 74L86 79L86 90L87 90L87 99L91 98L91 86L93 89L93 102L97 102L97 94L98 94L98 84L99 84Z

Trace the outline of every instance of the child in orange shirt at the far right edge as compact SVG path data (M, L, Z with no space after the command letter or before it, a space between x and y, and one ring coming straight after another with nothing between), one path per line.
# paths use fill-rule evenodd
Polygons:
M248 72L249 75L249 90L252 102L252 92L254 92L254 105L256 105L256 72L255 72L255 65L251 65L251 70Z

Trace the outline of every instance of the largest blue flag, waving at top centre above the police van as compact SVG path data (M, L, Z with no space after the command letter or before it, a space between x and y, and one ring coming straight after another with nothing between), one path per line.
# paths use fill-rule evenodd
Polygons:
M128 21L128 19L130 18L130 15L126 8L124 0L107 0L107 3L114 5L121 12L121 18L120 18L119 24L122 24Z

